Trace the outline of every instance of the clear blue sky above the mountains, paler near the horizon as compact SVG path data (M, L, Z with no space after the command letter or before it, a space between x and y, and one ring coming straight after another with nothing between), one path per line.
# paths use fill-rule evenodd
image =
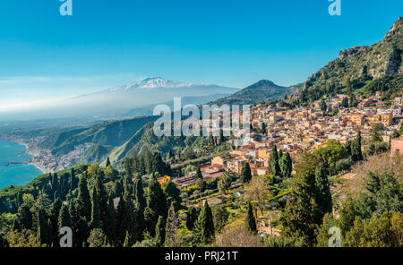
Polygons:
M401 0L0 2L0 110L161 76L243 88L305 81L341 49L371 45ZM3 98L3 99L2 99Z

